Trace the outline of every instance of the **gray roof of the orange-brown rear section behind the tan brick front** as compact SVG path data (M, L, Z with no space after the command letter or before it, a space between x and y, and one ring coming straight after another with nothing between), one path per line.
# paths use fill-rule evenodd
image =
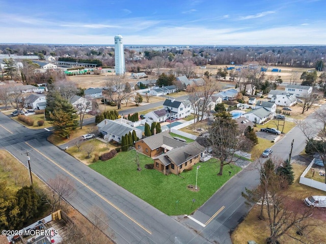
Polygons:
M142 140L149 146L149 148L151 148L151 150L154 150L162 145L171 146L173 148L186 145L186 143L182 141L173 139L173 137L170 136L169 131L161 132L156 135L146 137Z

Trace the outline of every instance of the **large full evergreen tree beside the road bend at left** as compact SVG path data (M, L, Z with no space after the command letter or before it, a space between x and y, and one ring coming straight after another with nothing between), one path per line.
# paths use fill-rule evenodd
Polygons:
M71 132L78 126L77 117L76 111L67 100L60 98L55 101L54 110L50 114L55 134L69 138Z

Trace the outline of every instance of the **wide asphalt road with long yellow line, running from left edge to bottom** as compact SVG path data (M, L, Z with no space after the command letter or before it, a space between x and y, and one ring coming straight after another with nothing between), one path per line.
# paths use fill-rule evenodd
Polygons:
M49 134L46 130L28 130L0 113L0 148L10 151L25 165L23 153L32 150L32 171L45 182L58 174L70 177L75 192L66 200L85 216L95 208L105 212L106 233L117 243L209 243L46 141Z

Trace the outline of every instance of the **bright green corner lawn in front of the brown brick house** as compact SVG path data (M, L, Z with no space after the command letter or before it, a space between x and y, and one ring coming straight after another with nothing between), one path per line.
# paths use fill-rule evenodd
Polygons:
M196 167L188 172L178 175L164 175L155 169L145 169L145 164L153 161L140 154L141 171L137 171L134 162L135 151L119 153L115 158L91 164L89 167L113 180L119 186L140 197L155 208L167 215L191 214L204 204L226 181L241 170L232 165L225 166L222 176L217 176L219 165L211 159L201 165L198 170L198 189L194 192L188 190L188 185L196 185ZM229 176L228 171L232 174ZM195 203L193 204L193 199Z

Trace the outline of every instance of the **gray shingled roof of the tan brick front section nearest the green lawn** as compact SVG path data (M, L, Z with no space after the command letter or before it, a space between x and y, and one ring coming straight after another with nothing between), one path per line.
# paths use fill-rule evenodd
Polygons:
M161 154L154 159L160 160L165 166L169 165L171 161L177 166L180 166L184 162L200 155L204 150L205 148L203 146L194 141L182 147L167 151L167 153Z

